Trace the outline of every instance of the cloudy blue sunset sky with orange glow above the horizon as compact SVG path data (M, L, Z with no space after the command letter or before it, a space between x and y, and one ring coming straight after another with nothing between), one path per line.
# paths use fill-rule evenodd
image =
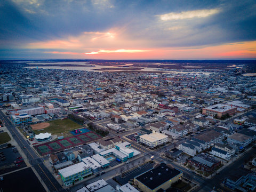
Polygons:
M255 59L255 0L0 0L0 59Z

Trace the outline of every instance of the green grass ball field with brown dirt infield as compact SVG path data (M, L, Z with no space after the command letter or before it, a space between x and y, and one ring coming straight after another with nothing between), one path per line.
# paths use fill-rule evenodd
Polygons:
M69 118L63 119L63 120L57 119L54 121L49 121L47 123L50 123L49 127L46 127L45 129L43 129L41 131L34 130L34 133L39 134L39 133L48 132L48 133L52 133L53 135L57 134L58 136L63 135L64 137L68 137L68 136L70 136L69 131L81 128L81 125L72 121ZM63 134L61 134L61 133L63 133Z

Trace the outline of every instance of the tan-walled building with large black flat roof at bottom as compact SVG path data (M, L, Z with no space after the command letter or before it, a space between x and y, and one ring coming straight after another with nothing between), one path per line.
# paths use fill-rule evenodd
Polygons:
M134 178L134 185L144 192L166 190L182 178L183 173L161 163L159 166Z

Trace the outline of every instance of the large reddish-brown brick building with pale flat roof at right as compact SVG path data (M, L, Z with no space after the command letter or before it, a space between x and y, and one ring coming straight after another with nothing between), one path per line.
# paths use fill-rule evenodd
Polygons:
M237 111L237 107L230 106L230 105L223 105L217 104L210 107L203 108L202 114L208 116L215 116L217 115L219 118L223 115L229 114L233 115Z

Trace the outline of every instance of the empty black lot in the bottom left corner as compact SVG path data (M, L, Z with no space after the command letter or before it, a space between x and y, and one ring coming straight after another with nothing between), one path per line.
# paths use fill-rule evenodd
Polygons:
M24 177L26 175L26 177ZM29 167L3 176L4 180L0 181L1 188L4 192L12 191L37 191L44 192L45 189L37 179L35 173Z

